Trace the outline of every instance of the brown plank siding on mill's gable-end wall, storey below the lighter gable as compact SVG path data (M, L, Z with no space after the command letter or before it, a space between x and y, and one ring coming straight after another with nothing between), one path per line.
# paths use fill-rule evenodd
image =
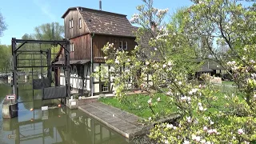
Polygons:
M70 39L74 43L74 52L70 52L71 60L90 59L90 34Z

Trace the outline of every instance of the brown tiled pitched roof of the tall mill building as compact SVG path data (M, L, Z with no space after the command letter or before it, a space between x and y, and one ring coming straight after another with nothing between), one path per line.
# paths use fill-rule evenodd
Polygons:
M74 8L70 8L69 10L72 9ZM134 26L130 24L124 14L115 14L103 10L88 9L85 7L77 7L76 9L82 15L82 18L84 22L86 22L86 26L91 34L135 37ZM63 14L62 18L66 16L69 10Z

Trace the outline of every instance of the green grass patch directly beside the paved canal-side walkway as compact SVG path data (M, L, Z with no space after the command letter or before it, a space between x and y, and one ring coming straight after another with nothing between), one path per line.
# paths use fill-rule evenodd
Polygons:
M158 102L157 98L161 98ZM131 114L135 114L141 118L149 118L152 116L152 111L147 103L150 96L144 94L133 94L127 96L122 102L119 102L117 98L102 98L100 102L107 105L117 107L121 110L125 110ZM177 111L177 107L173 106L166 97L166 94L155 94L152 98L152 109L155 114L166 116L167 114Z

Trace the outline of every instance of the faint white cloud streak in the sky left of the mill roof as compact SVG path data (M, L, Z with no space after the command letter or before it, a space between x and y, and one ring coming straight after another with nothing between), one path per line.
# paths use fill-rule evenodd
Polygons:
M43 14L46 14L46 16L50 18L50 20L52 21L56 20L55 15L50 12L50 9L49 9L50 6L46 1L34 0L33 2L36 6L38 6L41 9Z

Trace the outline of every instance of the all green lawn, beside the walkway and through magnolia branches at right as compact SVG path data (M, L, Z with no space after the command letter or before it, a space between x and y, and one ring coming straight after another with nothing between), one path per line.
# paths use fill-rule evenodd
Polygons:
M211 102L212 105L224 106L227 103L226 98L224 98L224 94L231 96L231 94L236 90L232 86L226 86L232 85L232 83L233 82L224 82L222 86L215 86L216 90L219 90L216 94L218 100ZM161 101L158 102L157 98L160 98ZM152 110L150 110L150 106L148 106L147 103L149 99L150 96L146 94L133 94L127 96L122 101L118 101L117 98L101 98L100 102L147 119L152 116ZM168 116L168 114L173 114L178 111L177 106L170 102L168 96L160 93L155 94L152 98L152 109L155 114L159 114L161 116ZM214 111L214 108L210 108L210 112Z

